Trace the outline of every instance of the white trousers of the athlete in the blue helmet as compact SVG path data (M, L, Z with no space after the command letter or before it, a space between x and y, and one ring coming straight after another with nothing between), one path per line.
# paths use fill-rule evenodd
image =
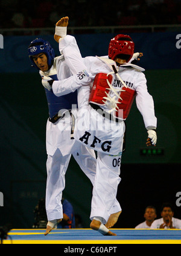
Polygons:
M77 147L72 152L80 168L94 184L96 171L96 158L94 150L88 149L75 141ZM46 214L48 220L63 218L62 192L65 189L65 173L71 159L71 153L63 156L59 149L54 155L48 155L46 161L47 181L46 181Z

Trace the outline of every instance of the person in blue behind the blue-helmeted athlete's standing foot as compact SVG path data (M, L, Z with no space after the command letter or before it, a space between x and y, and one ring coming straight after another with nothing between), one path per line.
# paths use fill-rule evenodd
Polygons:
M74 229L75 228L75 215L74 208L72 204L62 198L63 206L63 219L60 223L57 224L57 229Z

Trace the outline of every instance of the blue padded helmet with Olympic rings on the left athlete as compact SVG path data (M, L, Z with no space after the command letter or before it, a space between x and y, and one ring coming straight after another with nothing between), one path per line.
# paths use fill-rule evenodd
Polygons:
M31 41L30 45L28 46L28 55L30 58L31 63L34 67L36 67L39 70L39 67L36 66L33 60L33 55L39 54L39 53L45 53L47 60L48 60L48 67L51 67L51 62L55 58L54 55L54 49L52 49L51 45L48 41L45 41L41 38L36 38L33 41Z

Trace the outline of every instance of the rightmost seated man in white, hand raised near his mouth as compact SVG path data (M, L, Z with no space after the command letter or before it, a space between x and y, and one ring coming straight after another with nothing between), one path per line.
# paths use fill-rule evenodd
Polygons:
M150 229L181 229L181 220L174 218L173 215L173 206L170 203L162 204L162 218L154 220Z

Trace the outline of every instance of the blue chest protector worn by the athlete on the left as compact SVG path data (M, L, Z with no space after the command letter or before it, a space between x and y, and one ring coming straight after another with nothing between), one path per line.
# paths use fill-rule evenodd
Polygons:
M54 80L57 79L57 75L50 75L50 78ZM49 110L49 118L52 118L56 115L60 109L72 109L72 104L77 105L77 90L75 92L71 92L67 95L57 97L54 95L52 90L47 90L45 88L46 99L48 101L48 110Z

